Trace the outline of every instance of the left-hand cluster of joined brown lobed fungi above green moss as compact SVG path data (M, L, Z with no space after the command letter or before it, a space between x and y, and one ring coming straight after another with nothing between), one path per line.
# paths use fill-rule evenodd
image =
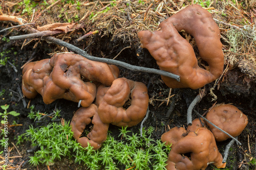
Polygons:
M146 86L118 77L119 68L115 65L91 61L73 53L55 54L51 59L25 65L22 91L30 99L41 94L46 104L56 99L79 102L82 107L75 112L71 122L74 138L82 147L90 143L97 150L106 139L109 124L137 125L147 111ZM125 110L123 105L130 96L131 106ZM81 137L90 123L93 129Z

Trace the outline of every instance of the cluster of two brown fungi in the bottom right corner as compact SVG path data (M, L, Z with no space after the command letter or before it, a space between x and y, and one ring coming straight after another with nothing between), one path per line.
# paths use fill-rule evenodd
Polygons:
M248 124L247 116L237 107L229 104L213 107L206 114L206 118L233 137L240 135ZM201 118L194 119L187 129L172 128L161 137L166 145L172 144L166 169L205 169L210 163L217 168L224 168L226 163L223 162L216 141L224 141L228 138L230 137L227 134Z

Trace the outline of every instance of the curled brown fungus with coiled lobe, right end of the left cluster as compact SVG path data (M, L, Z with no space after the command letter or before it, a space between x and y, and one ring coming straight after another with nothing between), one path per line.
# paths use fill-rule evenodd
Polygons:
M96 100L98 113L105 124L131 127L141 122L146 114L148 94L146 86L141 82L118 78L111 87L100 87L97 93L101 93ZM130 95L131 105L125 109L123 106Z

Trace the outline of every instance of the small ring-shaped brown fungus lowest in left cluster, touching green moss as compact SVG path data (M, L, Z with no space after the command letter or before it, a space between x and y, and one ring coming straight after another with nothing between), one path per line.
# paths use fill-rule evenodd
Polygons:
M83 148L88 147L88 143L97 150L101 147L103 141L106 140L106 136L109 129L109 124L103 124L98 116L98 107L94 104L87 108L78 109L71 121L72 132L74 132L74 138ZM91 119L92 117L92 119ZM84 128L90 123L93 124L93 129L87 136L80 137Z

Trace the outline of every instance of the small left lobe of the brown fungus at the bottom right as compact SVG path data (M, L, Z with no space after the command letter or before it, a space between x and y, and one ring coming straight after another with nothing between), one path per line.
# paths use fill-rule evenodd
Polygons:
M173 148L175 144L183 137L187 135L187 132L182 127L174 127L168 132L165 132L161 136L161 141L166 142L166 145L172 144L170 147Z

